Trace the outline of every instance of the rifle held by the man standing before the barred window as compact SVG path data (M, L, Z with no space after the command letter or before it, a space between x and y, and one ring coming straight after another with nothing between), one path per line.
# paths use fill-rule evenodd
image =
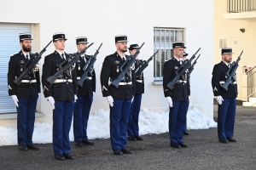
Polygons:
M195 54L193 54L193 56L192 56L190 59L186 59L186 60L183 62L183 65L180 65L180 67L178 67L177 71L175 71L176 77L174 77L174 78L172 79L172 81L167 84L167 87L168 87L168 88L172 89L172 88L174 87L174 85L178 82L179 77L181 77L181 76L183 75L183 73L184 73L185 71L187 71L187 69L189 68L189 66L191 66L191 61L192 61L193 59L195 59L195 55L200 51L200 49L201 49L201 48L199 48L199 49L195 52Z

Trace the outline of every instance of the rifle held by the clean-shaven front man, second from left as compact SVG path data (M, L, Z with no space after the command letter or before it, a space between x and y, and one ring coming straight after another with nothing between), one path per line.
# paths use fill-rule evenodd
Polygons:
M73 54L72 56L68 57L67 59L65 59L63 62L61 62L61 64L59 65L59 71L55 72L55 74L53 76L50 76L47 78L47 82L49 82L50 84L53 84L55 82L55 80L62 75L62 73L64 71L67 71L67 69L69 69L75 62L77 62L77 60L79 60L79 56L81 56L82 54L85 53L86 49L90 48L90 46L93 44L90 43L90 45L87 48L84 48L79 54ZM67 63L67 64L66 64ZM64 65L66 64L66 65ZM64 66L63 66L64 65Z

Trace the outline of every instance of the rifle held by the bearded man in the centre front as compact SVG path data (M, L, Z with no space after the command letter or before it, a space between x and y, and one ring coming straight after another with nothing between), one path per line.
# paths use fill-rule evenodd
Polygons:
M123 65L120 66L119 68L119 71L120 74L119 74L119 77L117 77L113 82L113 86L115 88L119 88L119 82L121 82L121 80L124 80L125 79L125 73L127 73L130 68L131 68L131 65L134 63L136 57L137 57L137 54L140 53L140 49L143 48L143 45L144 45L145 42L143 42L143 44L141 45L141 47L137 48L137 52L134 54L134 55L130 55L128 57L128 59L125 60L125 63ZM125 67L125 68L124 68ZM124 68L124 69L123 69ZM131 77L131 75L128 75L128 77Z

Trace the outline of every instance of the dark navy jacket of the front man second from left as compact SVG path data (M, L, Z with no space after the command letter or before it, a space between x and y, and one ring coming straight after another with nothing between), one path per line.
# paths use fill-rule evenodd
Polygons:
M65 53L66 59L70 57ZM78 94L78 81L76 70L71 71L71 76L67 75L67 71L64 71L61 77L58 79L72 79L73 82L59 82L52 85L47 82L47 78L53 76L58 71L59 65L64 59L61 55L55 51L52 54L45 56L42 74L42 83L44 90L44 97L52 96L55 100L71 101L74 100L74 94Z

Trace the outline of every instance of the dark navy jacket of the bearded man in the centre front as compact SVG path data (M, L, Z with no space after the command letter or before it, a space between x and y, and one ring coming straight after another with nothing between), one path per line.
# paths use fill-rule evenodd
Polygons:
M128 56L126 55L126 58ZM102 64L101 71L101 84L102 84L102 95L107 97L111 95L114 99L132 99L135 94L135 75L134 71L131 71L131 77L125 75L125 80L121 82L132 82L131 85L119 85L119 88L115 88L111 82L115 80L119 74L119 68L125 61L119 56L117 52L108 55ZM110 82L109 82L109 81ZM109 84L110 83L110 84Z

